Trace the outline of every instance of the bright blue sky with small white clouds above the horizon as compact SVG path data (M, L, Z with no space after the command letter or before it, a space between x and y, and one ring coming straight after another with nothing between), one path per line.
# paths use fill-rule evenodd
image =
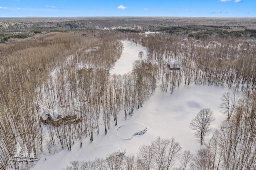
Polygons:
M0 0L0 17L254 17L256 0Z

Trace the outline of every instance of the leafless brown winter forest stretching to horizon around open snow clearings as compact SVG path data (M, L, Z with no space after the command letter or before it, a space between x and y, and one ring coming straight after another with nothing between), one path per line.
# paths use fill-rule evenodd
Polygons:
M0 169L29 169L56 145L82 147L83 140L94 141L101 123L107 134L120 114L132 116L156 88L172 93L192 83L234 91L222 95L227 119L210 140L196 134L202 148L195 154L182 151L172 136L159 137L137 155L116 152L70 162L66 169L256 169L255 23L255 18L0 18ZM143 45L147 53L140 51L132 72L113 75L122 40Z

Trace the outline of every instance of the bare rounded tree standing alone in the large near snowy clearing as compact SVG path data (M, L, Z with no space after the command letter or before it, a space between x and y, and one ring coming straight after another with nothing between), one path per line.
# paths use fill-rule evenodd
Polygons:
M210 124L214 120L214 115L209 108L200 110L196 117L192 119L190 128L195 131L195 136L200 139L201 145L204 143L205 136L210 132Z

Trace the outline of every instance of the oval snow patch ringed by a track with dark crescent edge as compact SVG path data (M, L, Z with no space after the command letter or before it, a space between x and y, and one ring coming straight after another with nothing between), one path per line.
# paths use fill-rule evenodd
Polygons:
M131 140L133 136L146 133L148 128L139 123L131 123L129 125L122 125L117 129L117 134L120 138Z

